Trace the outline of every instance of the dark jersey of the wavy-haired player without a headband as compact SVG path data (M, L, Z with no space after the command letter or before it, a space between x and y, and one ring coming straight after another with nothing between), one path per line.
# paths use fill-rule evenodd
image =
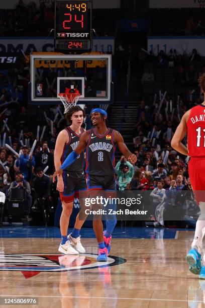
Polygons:
M69 126L65 128L65 130L68 133L69 141L68 143L65 143L63 154L61 157L61 164L65 161L65 159L68 157L68 155L74 151L79 143L80 136L84 132L84 128L80 128L80 134L77 135ZM80 155L77 157L74 163L72 163L70 166L68 166L65 170L66 171L72 171L76 173L83 174L83 168L84 168L84 151L80 153ZM77 175L77 174L76 174Z

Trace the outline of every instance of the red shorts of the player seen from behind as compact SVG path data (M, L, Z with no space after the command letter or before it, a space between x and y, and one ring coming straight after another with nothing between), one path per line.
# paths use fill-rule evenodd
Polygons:
M205 202L205 157L191 157L188 174L197 203Z

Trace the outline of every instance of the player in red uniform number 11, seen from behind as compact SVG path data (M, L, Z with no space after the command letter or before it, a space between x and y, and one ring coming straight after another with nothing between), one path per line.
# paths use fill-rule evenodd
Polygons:
M202 93L205 93L205 74L198 80ZM187 133L188 147L181 142ZM194 106L182 117L171 146L183 155L190 156L188 172L196 201L200 207L200 215L196 222L195 235L191 244L191 250L186 256L189 270L198 274L199 278L205 278L205 271L201 269L201 242L205 233L205 100L202 104ZM201 271L200 271L201 269ZM203 277L202 277L203 276Z

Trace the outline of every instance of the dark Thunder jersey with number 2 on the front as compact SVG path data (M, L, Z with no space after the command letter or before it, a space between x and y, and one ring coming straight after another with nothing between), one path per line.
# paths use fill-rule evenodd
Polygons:
M106 134L98 135L94 128L88 130L86 146L86 167L88 175L107 176L115 173L114 129L108 128Z

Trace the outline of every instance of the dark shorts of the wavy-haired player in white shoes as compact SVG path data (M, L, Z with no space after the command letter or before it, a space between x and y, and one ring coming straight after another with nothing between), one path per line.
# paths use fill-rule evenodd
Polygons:
M64 190L60 193L61 202L70 203L74 198L81 198L87 196L87 184L85 176L76 172L63 171Z

